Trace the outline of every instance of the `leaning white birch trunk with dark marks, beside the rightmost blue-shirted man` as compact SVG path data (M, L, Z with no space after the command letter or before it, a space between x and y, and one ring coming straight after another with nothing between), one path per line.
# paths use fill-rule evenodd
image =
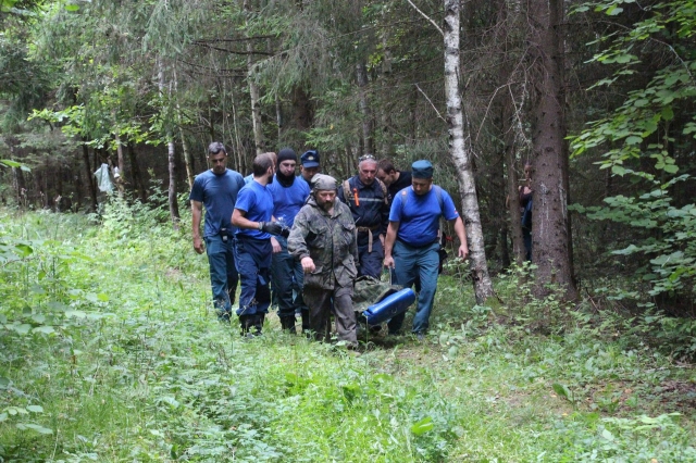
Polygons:
M462 218L471 255L471 273L476 303L482 304L493 293L488 275L483 229L478 214L478 200L472 172L471 155L464 145L464 127L461 97L459 93L459 1L445 0L445 97L447 99L447 125L449 132L449 155L458 175L462 203Z

